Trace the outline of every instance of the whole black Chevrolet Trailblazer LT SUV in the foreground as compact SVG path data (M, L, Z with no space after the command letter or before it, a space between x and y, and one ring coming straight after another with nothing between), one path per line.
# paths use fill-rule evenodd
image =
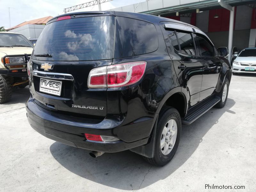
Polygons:
M225 105L231 66L192 25L77 12L47 22L28 73L27 116L37 132L94 157L130 149L162 166L182 123Z

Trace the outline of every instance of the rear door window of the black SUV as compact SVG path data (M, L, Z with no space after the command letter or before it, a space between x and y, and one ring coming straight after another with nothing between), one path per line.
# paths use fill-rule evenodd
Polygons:
M196 55L196 50L191 34L177 31L177 36L180 42L180 52L189 55Z

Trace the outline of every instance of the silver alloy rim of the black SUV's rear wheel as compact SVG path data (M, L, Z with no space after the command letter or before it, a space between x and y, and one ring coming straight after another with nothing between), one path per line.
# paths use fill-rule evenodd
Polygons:
M175 144L177 138L177 123L170 119L164 126L160 141L160 148L164 155L168 155Z

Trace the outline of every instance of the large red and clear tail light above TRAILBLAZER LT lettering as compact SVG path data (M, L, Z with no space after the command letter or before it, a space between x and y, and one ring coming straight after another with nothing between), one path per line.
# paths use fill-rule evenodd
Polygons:
M146 61L121 63L92 69L89 88L123 87L138 82L146 69Z

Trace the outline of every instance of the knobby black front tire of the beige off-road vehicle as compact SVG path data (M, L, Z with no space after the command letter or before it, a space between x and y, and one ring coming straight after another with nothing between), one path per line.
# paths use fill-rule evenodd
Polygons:
M12 97L12 77L0 75L0 104L5 103Z

